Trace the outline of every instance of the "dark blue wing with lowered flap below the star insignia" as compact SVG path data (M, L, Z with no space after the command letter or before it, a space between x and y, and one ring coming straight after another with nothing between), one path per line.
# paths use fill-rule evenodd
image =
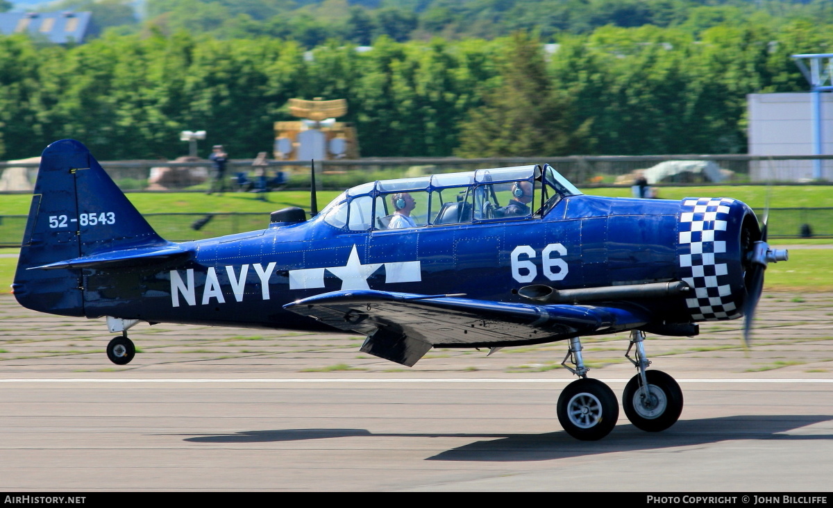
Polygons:
M431 347L502 347L557 341L650 321L636 306L532 305L391 291L333 291L284 306L367 335L362 351L413 366Z

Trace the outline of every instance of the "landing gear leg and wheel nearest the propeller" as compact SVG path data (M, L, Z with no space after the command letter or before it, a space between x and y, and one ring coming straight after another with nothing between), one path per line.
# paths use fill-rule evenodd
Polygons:
M645 354L645 332L631 331L631 345L625 357L639 372L622 393L622 407L631 423L643 431L665 431L674 425L682 412L682 390L674 378L662 371L647 371L651 361ZM631 349L636 348L636 360Z

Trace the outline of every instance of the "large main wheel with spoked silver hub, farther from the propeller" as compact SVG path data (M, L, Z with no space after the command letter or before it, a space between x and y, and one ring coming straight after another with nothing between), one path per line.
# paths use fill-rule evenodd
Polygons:
M607 436L619 418L619 402L610 386L597 379L571 382L558 396L558 421L581 441Z

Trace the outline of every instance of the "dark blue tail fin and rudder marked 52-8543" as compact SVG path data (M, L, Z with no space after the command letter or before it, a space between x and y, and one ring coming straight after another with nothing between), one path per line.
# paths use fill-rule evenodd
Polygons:
M30 309L83 316L82 271L39 266L166 245L87 147L53 142L41 157L12 291Z

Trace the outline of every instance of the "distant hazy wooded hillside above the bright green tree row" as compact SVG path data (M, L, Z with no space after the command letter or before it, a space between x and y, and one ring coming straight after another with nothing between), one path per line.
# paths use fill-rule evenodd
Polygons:
M0 10L5 0L0 0ZM597 28L673 27L695 37L718 25L756 22L776 27L805 20L833 23L830 0L62 0L47 10L92 11L97 31L185 30L218 38L279 37L307 48L328 38L370 45L506 37L537 32L545 42Z

